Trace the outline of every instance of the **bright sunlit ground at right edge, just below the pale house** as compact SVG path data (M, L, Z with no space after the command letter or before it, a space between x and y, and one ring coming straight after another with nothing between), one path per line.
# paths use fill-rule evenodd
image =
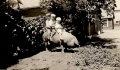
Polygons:
M106 45L116 45L117 49L120 49L120 26L114 30L103 30L104 33L98 35L100 38L112 39L112 43Z

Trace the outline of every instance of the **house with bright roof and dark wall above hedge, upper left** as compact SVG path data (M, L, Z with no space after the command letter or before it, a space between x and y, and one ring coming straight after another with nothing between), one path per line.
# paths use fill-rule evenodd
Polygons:
M40 8L40 0L21 0L21 13L24 17L36 17L44 15L45 11Z

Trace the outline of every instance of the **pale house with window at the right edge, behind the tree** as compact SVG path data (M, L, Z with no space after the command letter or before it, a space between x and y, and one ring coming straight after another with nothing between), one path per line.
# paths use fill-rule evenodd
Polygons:
M103 28L114 29L115 26L120 25L120 0L116 0L116 6L113 15L107 15L107 12L102 10Z

